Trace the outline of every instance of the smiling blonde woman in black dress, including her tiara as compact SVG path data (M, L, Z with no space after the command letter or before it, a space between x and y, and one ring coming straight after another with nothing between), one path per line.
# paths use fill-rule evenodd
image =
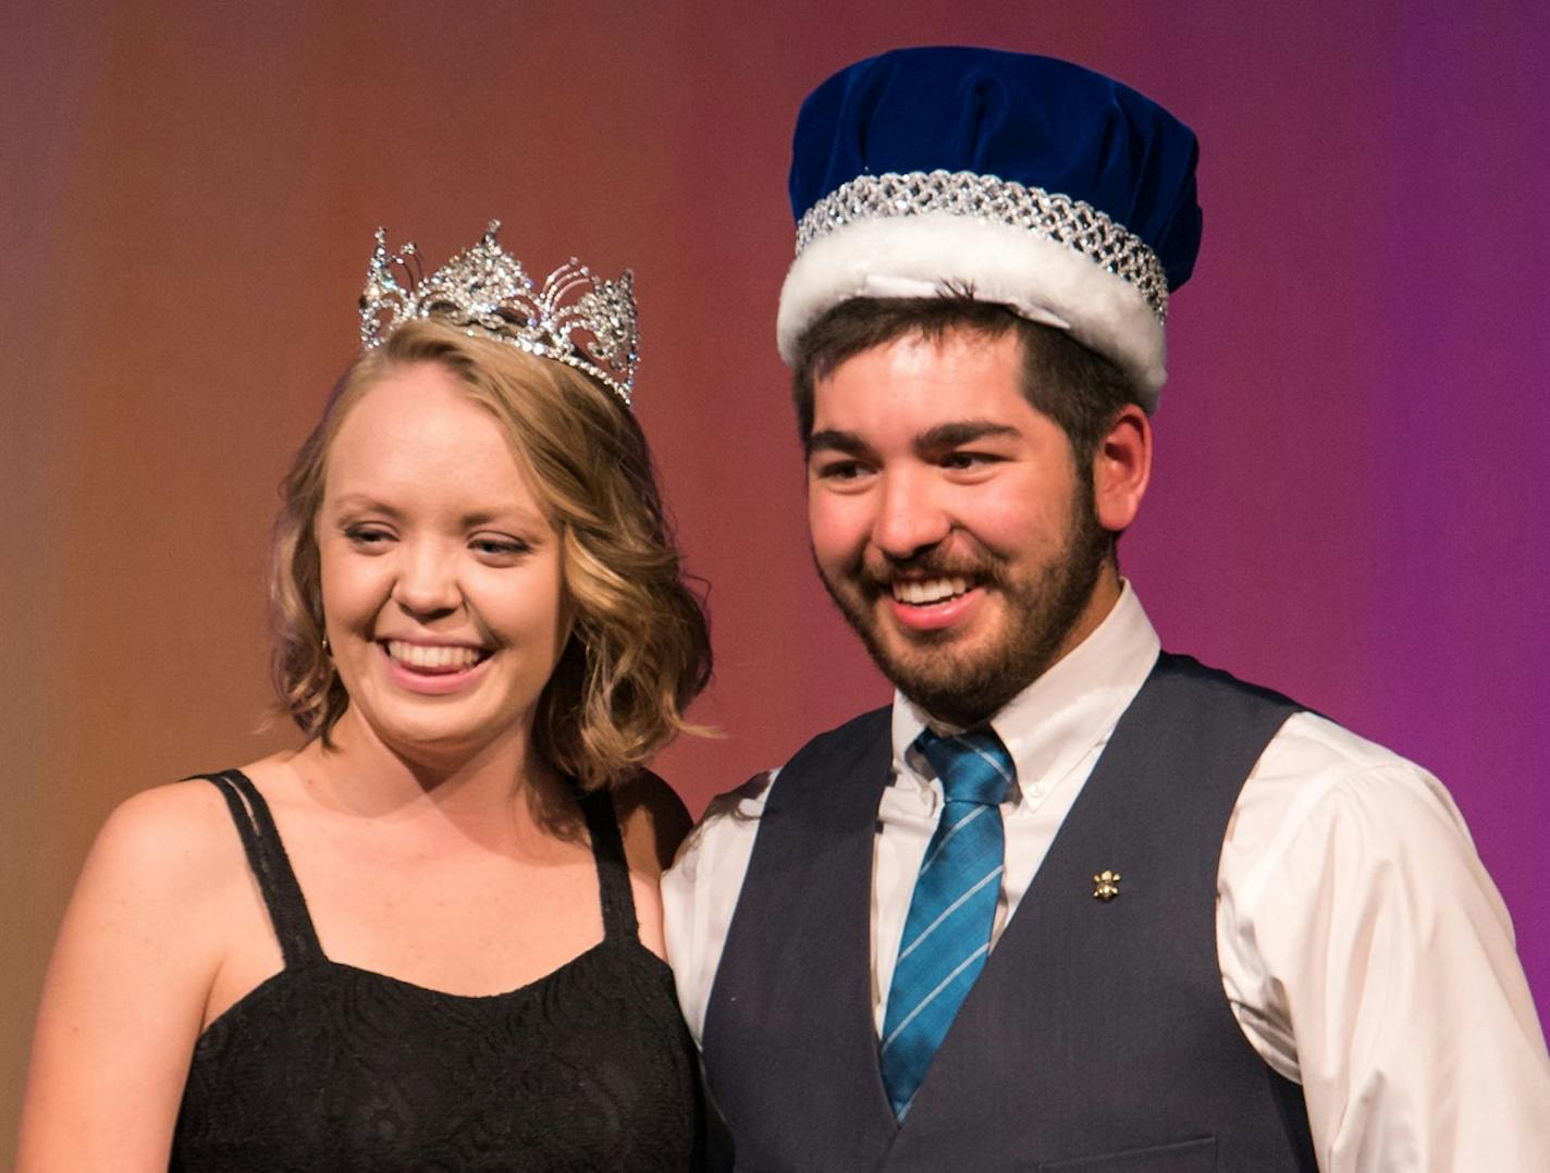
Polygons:
M628 409L629 274L535 294L496 228L429 279L378 232L276 531L305 744L108 820L23 1170L693 1164L657 902L687 818L642 764L705 621Z

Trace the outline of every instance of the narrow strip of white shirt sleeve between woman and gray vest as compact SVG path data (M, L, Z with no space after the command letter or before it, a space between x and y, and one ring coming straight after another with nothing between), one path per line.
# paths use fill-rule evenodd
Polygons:
M742 877L777 772L718 795L662 875L662 924L684 1021L698 1044Z

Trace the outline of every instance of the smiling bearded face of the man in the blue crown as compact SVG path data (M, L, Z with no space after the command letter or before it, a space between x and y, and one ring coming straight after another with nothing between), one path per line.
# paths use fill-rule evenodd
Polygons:
M814 384L814 559L884 674L928 713L995 713L1107 614L1110 535L1015 333L905 335Z

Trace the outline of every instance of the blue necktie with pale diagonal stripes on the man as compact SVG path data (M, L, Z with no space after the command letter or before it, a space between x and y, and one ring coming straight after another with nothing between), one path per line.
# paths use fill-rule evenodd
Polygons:
M1000 804L1015 773L989 728L956 738L925 730L914 747L947 801L914 882L882 1027L882 1080L901 1120L990 951L1004 848Z

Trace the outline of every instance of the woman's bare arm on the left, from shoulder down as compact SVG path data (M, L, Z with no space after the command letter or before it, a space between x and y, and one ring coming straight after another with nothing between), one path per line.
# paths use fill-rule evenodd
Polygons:
M220 803L192 783L149 790L91 846L43 984L20 1173L166 1170L240 865Z

